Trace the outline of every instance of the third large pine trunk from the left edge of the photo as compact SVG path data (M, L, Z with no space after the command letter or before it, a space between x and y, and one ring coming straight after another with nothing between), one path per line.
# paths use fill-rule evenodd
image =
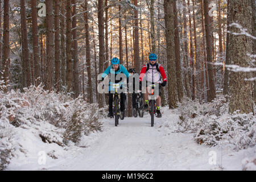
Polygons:
M33 54L34 54L34 68L35 68L35 85L38 86L42 81L40 76L40 56L39 56L39 38L38 38L38 13L36 7L36 0L31 0L32 9L32 36L33 36Z

